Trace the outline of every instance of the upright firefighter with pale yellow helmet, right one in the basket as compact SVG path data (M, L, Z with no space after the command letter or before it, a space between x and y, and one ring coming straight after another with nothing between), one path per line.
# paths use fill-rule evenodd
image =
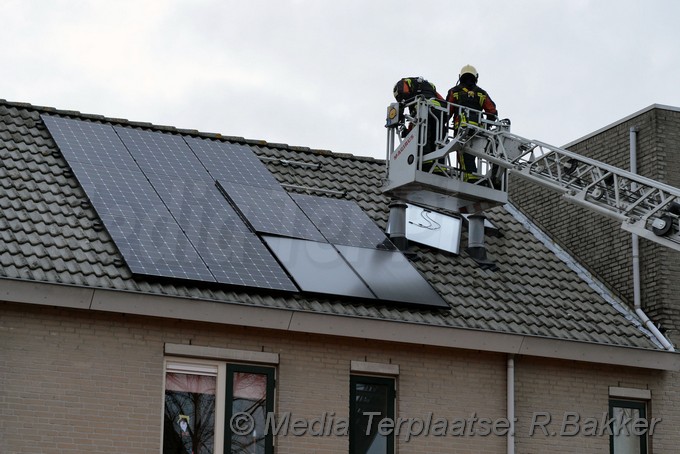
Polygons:
M460 70L458 78L458 85L451 88L446 95L448 103L458 104L459 106L469 107L476 111L483 110L489 120L495 120L498 116L496 104L491 100L489 94L482 88L477 86L477 79L479 74L474 66L465 65ZM460 125L464 124L480 124L480 114L478 112L469 112L467 114L459 107L451 106L449 113L453 115L453 128L458 131ZM462 156L461 156L462 154ZM459 153L458 162L464 173L464 181L474 182L478 179L477 176L472 175L477 172L477 164L475 157L467 153Z

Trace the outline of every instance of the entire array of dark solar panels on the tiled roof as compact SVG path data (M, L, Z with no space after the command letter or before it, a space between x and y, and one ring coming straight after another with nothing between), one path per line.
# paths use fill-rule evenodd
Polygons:
M446 307L358 205L291 196L245 145L42 118L133 273Z

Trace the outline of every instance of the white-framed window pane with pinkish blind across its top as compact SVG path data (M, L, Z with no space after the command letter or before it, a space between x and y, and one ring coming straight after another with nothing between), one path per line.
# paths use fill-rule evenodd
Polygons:
M166 373L163 453L213 453L216 385L215 376Z

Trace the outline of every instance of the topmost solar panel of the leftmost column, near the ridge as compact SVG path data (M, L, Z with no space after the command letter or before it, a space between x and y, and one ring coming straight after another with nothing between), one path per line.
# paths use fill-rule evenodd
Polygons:
M47 115L42 119L69 163L139 171L111 125Z

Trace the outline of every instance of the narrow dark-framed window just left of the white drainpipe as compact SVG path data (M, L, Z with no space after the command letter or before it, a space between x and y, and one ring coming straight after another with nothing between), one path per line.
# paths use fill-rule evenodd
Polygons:
M378 430L382 419L394 421L394 400L393 378L350 376L349 451L352 454L394 453L394 431Z

